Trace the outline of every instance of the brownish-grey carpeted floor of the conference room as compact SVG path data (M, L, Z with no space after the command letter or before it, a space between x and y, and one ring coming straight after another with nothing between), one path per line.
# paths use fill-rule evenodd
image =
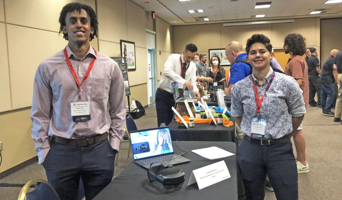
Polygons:
M156 109L151 105L146 109L146 116L135 120L138 129L157 126ZM309 173L298 175L300 200L340 200L342 199L342 125L334 123L333 117L321 115L321 109L308 108L303 121L303 132L306 140L306 159L310 165ZM123 143L122 147L128 147ZM294 150L295 152L295 150ZM127 158L127 150L120 151L118 166L115 167L114 177L124 170L133 160L132 153ZM44 168L37 163L26 167L0 183L26 183L35 178L46 180ZM21 188L0 187L1 200L18 198ZM275 200L274 192L266 191L266 200Z

